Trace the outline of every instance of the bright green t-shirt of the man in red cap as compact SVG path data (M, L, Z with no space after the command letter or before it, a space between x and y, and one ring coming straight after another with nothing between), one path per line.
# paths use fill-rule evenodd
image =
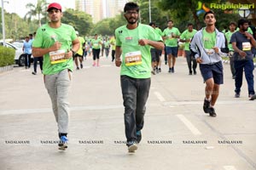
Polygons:
M35 37L32 47L35 48L49 48L56 41L61 42L61 50L67 53L71 50L72 42L77 38L73 26L68 26L61 23L59 28L52 28L48 24L38 28L37 36ZM49 54L44 54L44 75L52 75L69 69L73 71L73 59L66 59L64 62L51 64Z

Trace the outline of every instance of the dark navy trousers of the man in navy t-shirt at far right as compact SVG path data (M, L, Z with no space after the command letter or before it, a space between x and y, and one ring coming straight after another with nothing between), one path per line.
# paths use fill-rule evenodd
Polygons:
M240 91L241 91L243 70L245 72L245 77L247 79L248 94L255 94L254 81L253 81L253 70L254 70L253 59L235 60L234 67L236 71L236 79L235 79L236 94L240 94Z

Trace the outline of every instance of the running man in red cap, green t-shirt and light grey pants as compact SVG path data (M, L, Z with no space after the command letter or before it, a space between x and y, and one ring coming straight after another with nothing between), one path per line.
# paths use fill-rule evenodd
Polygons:
M69 122L68 91L73 71L73 54L79 49L79 39L72 26L61 23L61 5L50 3L47 9L49 23L38 28L32 44L32 55L44 55L44 85L52 102L58 123L59 149L67 148ZM72 47L72 48L71 48Z

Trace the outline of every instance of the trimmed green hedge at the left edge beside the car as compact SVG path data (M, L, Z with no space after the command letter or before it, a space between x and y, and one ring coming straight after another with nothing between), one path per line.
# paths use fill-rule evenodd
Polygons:
M15 49L0 46L0 67L13 65L15 60Z

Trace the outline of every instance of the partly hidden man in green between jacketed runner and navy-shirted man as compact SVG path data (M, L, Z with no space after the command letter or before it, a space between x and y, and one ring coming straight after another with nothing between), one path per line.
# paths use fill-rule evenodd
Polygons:
M236 22L230 22L230 30L225 33L225 37L227 38L227 42L229 43L229 56L230 56L230 70L232 73L232 78L235 79L235 67L234 67L234 49L232 48L232 43L230 43L230 38L232 34L236 32Z

